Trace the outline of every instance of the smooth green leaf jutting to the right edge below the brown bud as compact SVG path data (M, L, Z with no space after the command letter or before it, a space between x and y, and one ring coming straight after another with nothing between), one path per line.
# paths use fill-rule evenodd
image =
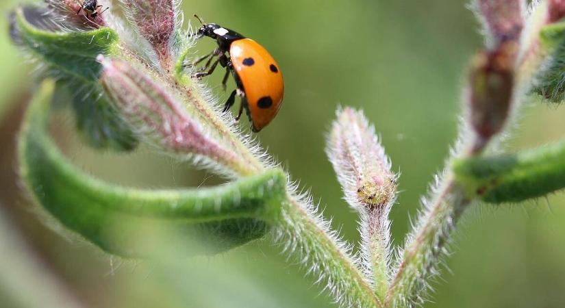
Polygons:
M565 188L565 142L513 155L454 162L457 181L489 203L525 201Z

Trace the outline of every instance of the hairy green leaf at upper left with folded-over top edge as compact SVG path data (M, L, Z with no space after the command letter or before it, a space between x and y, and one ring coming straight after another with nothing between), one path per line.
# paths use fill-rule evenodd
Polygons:
M77 128L95 149L130 151L138 140L112 110L99 83L102 66L97 55L114 53L118 36L110 28L92 31L48 31L56 28L38 9L18 8L12 16L12 37L34 57L47 64L49 75L68 88ZM47 28L47 29L45 29Z

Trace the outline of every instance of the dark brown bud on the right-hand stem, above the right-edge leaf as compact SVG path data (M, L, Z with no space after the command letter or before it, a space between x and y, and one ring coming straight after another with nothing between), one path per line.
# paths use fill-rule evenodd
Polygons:
M516 44L505 42L495 51L481 51L470 74L470 121L479 147L504 127L514 87Z

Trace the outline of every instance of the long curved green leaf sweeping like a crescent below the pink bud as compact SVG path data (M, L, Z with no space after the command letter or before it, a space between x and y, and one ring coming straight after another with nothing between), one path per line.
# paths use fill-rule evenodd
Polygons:
M70 164L48 136L55 86L29 106L19 140L21 176L55 220L104 251L149 257L160 247L218 253L262 237L286 196L281 170L198 190L140 190L105 183Z

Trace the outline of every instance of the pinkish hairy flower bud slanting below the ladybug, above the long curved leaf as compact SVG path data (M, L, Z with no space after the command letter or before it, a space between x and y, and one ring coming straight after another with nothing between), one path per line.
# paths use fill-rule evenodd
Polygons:
M205 129L175 90L142 68L124 60L99 56L101 83L116 112L151 144L171 153L193 154L210 164L219 163L236 174L246 174L241 157ZM213 165L212 165L213 166ZM225 170L218 168L218 170Z

